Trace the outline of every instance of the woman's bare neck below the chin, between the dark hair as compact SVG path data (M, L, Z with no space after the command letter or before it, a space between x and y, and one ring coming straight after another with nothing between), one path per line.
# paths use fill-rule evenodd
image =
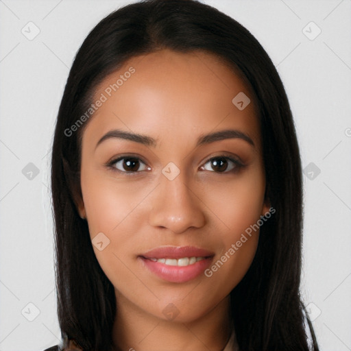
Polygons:
M117 295L117 293L116 293ZM195 320L160 319L117 295L112 339L116 351L222 351L232 333L226 296L215 308Z

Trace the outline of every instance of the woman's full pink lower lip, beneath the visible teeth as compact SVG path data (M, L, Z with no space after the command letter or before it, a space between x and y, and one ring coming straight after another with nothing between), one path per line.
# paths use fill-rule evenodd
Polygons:
M144 265L156 274L156 276L164 280L169 282L188 282L202 274L202 272L210 266L213 257L204 258L188 266L170 266L165 263L151 261L141 256L139 256L138 259L141 259Z

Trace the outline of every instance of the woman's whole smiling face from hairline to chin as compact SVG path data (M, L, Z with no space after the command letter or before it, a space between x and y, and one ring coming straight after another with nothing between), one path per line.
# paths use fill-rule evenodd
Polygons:
M162 50L106 77L98 99L79 210L117 309L206 315L250 267L258 230L245 230L269 210L251 90L215 56Z

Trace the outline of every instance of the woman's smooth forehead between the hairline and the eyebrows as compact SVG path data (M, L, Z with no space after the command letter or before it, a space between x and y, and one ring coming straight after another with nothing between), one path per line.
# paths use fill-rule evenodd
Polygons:
M177 143L195 132L235 128L261 143L252 89L223 60L202 51L133 57L97 86L93 101L99 99L104 102L83 140L122 128ZM241 109L241 101L250 103Z

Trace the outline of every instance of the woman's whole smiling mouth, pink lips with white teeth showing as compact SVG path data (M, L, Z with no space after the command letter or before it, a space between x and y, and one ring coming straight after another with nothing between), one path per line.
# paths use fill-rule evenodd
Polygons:
M152 275L169 282L188 282L208 268L214 252L193 247L166 246L138 255L138 260Z

